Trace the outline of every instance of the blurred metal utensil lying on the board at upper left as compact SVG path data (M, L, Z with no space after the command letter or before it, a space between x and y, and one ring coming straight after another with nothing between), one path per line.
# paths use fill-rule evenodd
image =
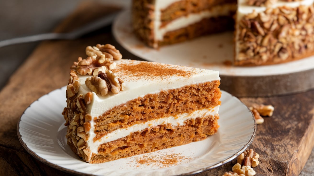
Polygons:
M46 33L46 34L37 34L37 35L30 35L30 36L2 40L0 41L0 48L3 46L8 46L8 45L35 42L35 41L41 41L41 40L77 39L92 31L95 31L97 29L110 25L118 13L119 12L111 13L109 15L106 15L103 18L97 19L91 23L88 23L68 33Z

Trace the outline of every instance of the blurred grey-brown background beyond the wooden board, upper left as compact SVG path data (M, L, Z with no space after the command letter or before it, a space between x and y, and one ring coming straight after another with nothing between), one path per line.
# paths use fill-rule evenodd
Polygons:
M131 2L131 0L94 1L122 8L128 7ZM0 40L52 32L82 2L83 0L2 0ZM38 44L39 42L34 42L0 48L0 90Z

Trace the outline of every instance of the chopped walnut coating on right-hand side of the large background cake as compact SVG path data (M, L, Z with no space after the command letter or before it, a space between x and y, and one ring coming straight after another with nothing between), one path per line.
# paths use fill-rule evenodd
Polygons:
M314 49L314 7L269 8L238 22L236 65L280 63L311 54Z

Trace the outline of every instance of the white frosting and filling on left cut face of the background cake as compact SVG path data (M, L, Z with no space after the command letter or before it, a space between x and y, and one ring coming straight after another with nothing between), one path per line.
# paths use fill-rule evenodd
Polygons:
M217 16L227 16L230 12L236 11L236 4L223 4L215 6L214 8L200 13L191 13L187 16L182 16L180 18L174 19L164 27L161 26L161 11L171 5L172 3L177 2L178 0L158 0L155 1L155 10L154 10L154 39L162 40L165 33L186 27L190 24L197 23L204 18L217 17ZM156 43L157 45L157 43ZM157 46L154 46L157 47Z

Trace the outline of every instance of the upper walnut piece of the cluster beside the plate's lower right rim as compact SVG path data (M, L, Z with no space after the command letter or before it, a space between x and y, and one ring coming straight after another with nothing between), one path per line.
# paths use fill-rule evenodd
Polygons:
M238 156L237 163L255 168L259 164L258 157L258 153L253 149L246 150Z

